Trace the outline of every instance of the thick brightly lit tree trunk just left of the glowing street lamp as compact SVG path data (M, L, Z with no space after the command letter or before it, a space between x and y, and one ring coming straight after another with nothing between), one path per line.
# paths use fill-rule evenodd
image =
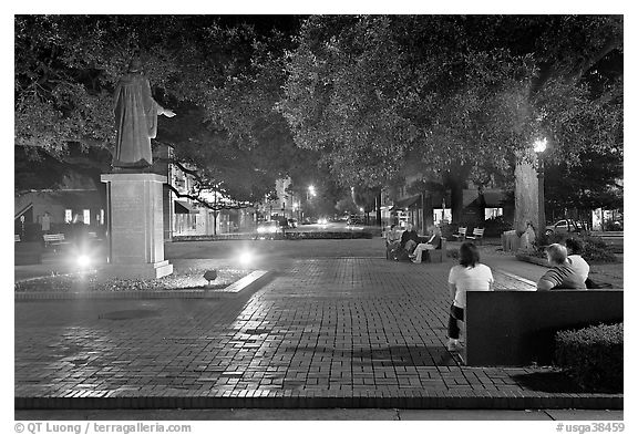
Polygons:
M536 230L538 228L538 177L533 163L524 159L523 155L519 156L514 169L514 229L521 235L527 229L527 224L532 224Z

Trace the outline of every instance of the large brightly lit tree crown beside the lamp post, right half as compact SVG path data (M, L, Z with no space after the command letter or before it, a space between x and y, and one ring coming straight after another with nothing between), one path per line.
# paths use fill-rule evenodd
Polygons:
M549 163L621 149L621 73L598 71L621 65L621 17L312 17L280 107L342 183L418 172L459 216L466 180L512 176L536 137Z

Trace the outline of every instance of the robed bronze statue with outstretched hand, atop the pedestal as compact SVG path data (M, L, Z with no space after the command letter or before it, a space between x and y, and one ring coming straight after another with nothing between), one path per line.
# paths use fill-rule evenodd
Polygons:
M115 153L113 167L144 168L153 164L151 138L157 135L157 115L175 113L162 107L151 95L151 84L142 72L142 62L133 59L128 72L115 87Z

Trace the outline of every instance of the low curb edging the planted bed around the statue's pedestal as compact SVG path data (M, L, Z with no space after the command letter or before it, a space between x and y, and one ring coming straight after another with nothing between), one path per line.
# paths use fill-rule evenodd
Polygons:
M241 292L256 290L266 284L272 272L255 270L224 289L217 290L162 290L162 291L114 291L114 292L20 292L14 301L75 300L75 299L217 299L235 298Z

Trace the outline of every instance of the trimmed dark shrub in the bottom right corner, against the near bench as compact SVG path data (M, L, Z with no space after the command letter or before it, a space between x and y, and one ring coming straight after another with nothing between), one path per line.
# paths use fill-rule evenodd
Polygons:
M584 389L622 392L622 323L556 333L555 363Z

